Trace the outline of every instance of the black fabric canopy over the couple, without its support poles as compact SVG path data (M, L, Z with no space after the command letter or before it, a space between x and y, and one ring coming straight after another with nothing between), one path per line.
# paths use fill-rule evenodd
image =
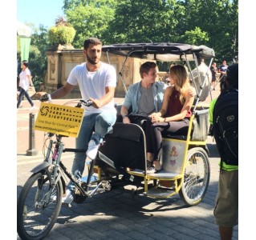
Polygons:
M106 45L102 48L103 52L126 56L131 58L142 58L161 62L188 61L197 58L214 58L214 50L207 46L194 46L184 43L120 43Z

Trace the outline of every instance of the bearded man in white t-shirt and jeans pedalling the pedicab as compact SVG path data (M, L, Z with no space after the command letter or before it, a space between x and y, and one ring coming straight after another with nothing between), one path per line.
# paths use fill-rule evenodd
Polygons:
M86 62L75 66L67 78L66 84L49 94L49 98L63 98L78 85L83 100L90 99L92 106L85 108L83 122L75 148L87 150L75 153L72 173L76 170L82 175L86 157L95 159L100 143L116 122L114 94L116 89L116 70L113 66L101 62L102 42L98 38L88 38L83 42L83 54ZM63 202L73 201L74 187L69 185Z

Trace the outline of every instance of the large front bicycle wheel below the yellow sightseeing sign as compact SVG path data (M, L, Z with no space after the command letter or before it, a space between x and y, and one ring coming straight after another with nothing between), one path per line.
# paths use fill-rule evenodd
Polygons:
M62 182L57 182L52 189L49 179L50 175L46 171L32 174L22 188L17 206L17 231L22 239L44 238L59 216ZM52 197L54 195L55 198ZM47 199L50 199L49 202Z

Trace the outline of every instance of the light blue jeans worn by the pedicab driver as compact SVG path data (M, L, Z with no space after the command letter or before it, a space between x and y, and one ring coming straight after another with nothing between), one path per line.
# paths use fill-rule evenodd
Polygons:
M78 137L75 139L75 148L87 150L88 142L92 139L96 144L103 141L103 138L116 122L116 110L104 111L101 114L91 114L83 117L83 122ZM83 174L86 153L75 153L72 166L72 173L79 170Z

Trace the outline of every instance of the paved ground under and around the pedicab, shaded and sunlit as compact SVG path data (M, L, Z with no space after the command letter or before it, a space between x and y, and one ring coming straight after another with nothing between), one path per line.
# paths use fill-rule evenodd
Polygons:
M219 90L212 92L213 98ZM54 100L56 104L67 102ZM121 102L121 99L116 99ZM59 102L59 103L58 103ZM209 103L209 99L205 101ZM40 102L35 101L39 106ZM17 193L30 176L30 169L42 162L43 132L35 131L35 149L39 154L26 156L29 148L29 105L22 102L17 113ZM34 110L35 114L37 110ZM66 138L67 147L75 146L74 138ZM219 239L213 218L213 206L217 194L219 161L212 138L207 140L210 152L210 182L203 201L197 206L186 207L179 195L168 199L152 199L144 194L132 197L133 186L124 190L112 190L95 195L83 204L63 206L58 222L45 239ZM71 167L71 154L64 154L63 161ZM18 236L17 236L17 239ZM234 230L238 239L238 226Z

